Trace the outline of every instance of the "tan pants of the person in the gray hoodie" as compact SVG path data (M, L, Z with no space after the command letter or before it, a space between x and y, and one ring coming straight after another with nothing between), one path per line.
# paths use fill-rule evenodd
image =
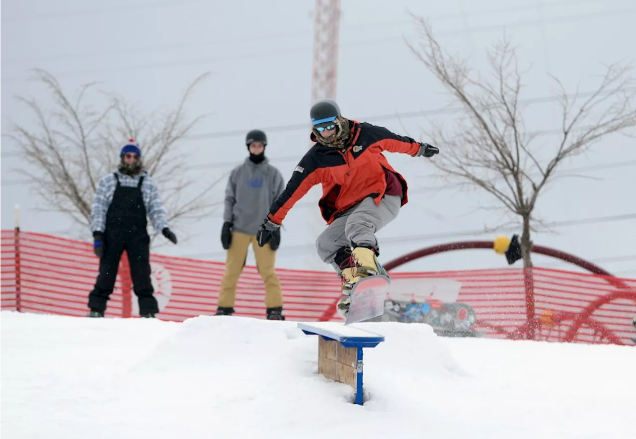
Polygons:
M225 273L221 279L221 292L219 293L219 308L231 308L236 298L237 281L243 271L247 249L252 244L256 267L265 282L265 306L268 308L282 307L282 292L280 281L274 271L276 252L269 244L258 246L255 235L247 235L241 232L232 232L232 245L228 249L228 258L225 262Z

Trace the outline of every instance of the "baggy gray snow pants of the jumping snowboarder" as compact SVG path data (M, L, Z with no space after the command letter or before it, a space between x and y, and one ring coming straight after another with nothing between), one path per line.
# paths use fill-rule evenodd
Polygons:
M356 206L336 218L316 239L316 249L322 261L335 268L338 275L342 271L334 262L336 253L342 247L352 244L378 246L375 232L395 220L401 207L401 197L385 195L376 206L372 197L366 197Z

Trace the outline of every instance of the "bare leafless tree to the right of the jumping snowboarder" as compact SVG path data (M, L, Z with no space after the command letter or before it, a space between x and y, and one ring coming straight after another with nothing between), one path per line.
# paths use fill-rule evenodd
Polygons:
M432 123L429 137L441 147L432 161L438 177L489 193L497 207L520 220L523 265L531 267L530 232L542 225L534 213L539 194L555 180L566 159L636 125L631 105L635 88L626 76L628 67L609 66L600 85L588 93L577 90L570 95L552 77L558 85L552 100L560 106L561 126L551 146L538 144L541 133L524 124L522 73L508 39L487 52L490 71L483 76L474 73L466 60L448 55L423 18L412 17L421 29L421 40L407 45L459 107L452 130Z

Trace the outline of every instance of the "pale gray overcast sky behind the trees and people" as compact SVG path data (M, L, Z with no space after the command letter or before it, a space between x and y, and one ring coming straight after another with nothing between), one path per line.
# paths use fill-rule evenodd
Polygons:
M417 25L407 11L429 18L446 50L469 57L471 67L484 72L485 50L505 31L518 46L520 66L529 69L524 74L524 99L554 94L548 74L571 92L577 85L582 91L593 90L604 64L632 60L636 41L636 6L627 0L341 3L336 99L343 114L420 141L427 140L421 133L428 122L417 113L450 101L405 43L405 39L417 43L418 38ZM46 91L29 81L33 67L50 71L71 95L83 83L100 81L100 88L124 95L144 111L174 106L184 87L209 71L210 78L190 101L188 116L209 114L196 133L214 136L183 141L179 151L197 164L238 164L247 155L244 133L265 128L266 155L287 179L307 150L307 130L267 128L308 122L313 8L314 1L309 0L3 1L0 132L8 131L10 120L31 123L31 114L13 96L49 102ZM92 99L103 104L97 94ZM452 127L457 116L445 113L436 120ZM532 130L558 129L555 102L529 106L525 122ZM549 151L556 141L548 134L537 144ZM438 146L443 154L444 145ZM34 211L42 200L15 172L24 166L15 151L15 144L1 141L0 228L13 226L13 206L20 204L23 230L76 233L61 214ZM497 235L471 233L501 223L501 213L478 209L492 206L492 196L428 192L436 183L428 177L432 166L427 160L391 153L387 157L408 180L411 195L397 220L378 233L383 261L449 240ZM590 153L564 164L564 171L574 170L586 178L558 179L543 194L538 213L560 225L555 226L556 234L536 234L534 241L597 261L615 274L636 276L635 165L633 141L620 136L607 137ZM211 181L230 169L228 165L197 172L201 181ZM310 200L316 199L315 190L308 195ZM223 186L215 196L223 199ZM221 214L219 210L189 225L191 238L186 242L156 251L225 260L219 239ZM315 255L314 240L324 227L315 204L292 209L284 226L279 267L329 270ZM183 235L186 230L175 232ZM248 263L253 262L250 253ZM536 265L570 267L548 258L536 258ZM494 253L465 251L413 261L404 269L504 266L503 258Z

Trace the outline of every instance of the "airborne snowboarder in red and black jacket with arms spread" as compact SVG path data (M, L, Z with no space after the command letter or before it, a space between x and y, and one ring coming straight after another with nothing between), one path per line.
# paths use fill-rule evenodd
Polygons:
M406 180L389 165L383 151L430 158L439 150L384 127L344 118L331 99L316 102L310 117L315 144L270 207L258 230L258 244L269 242L289 209L312 186L321 184L318 205L328 226L315 245L321 260L340 275L342 292L348 296L362 277L387 275L378 261L375 233L408 202ZM340 305L347 309L347 297Z

